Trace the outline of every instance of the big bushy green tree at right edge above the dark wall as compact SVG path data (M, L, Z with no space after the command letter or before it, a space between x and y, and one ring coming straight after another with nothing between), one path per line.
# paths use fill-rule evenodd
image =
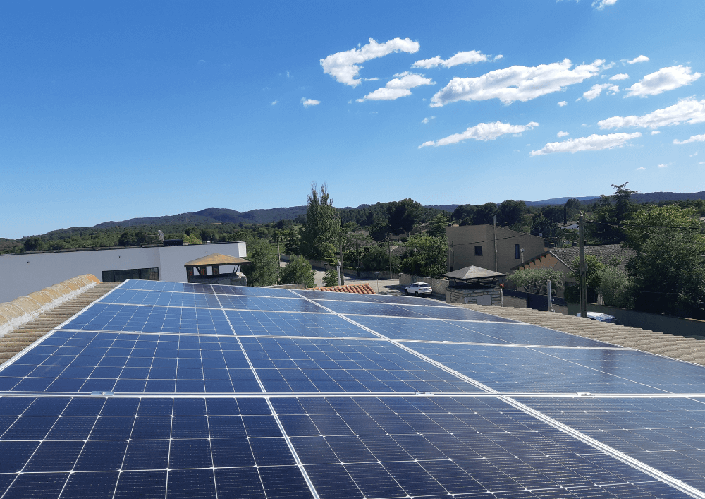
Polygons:
M635 308L651 313L702 315L705 238L683 229L654 231L627 265Z

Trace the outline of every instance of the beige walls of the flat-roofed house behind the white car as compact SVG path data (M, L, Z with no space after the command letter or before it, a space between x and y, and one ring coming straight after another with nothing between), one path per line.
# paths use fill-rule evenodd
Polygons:
M495 270L494 265L494 226L464 225L446 227L448 238L448 265L458 270L470 265ZM497 227L497 272L508 273L509 269L520 263L514 258L514 245L524 249L524 260L534 258L546 251L544 239ZM482 246L482 256L474 254L474 246Z

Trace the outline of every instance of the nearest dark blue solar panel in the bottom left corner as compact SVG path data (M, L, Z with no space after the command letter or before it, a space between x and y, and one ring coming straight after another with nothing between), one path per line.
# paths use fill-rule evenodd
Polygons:
M1 397L0 412L6 497L311 497L263 399Z

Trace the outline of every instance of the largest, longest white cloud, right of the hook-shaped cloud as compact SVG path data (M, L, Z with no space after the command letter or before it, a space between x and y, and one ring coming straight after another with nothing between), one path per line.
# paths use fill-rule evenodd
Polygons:
M570 69L569 59L539 66L510 66L490 71L476 78L453 78L431 99L431 107L444 106L458 100L499 99L504 104L516 100L526 102L541 95L563 90L581 83L601 71L605 61L581 64Z

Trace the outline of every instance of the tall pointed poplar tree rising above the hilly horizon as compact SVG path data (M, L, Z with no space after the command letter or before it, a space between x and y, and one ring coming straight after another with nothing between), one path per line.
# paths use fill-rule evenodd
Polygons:
M312 184L308 196L306 224L301 232L301 253L313 260L332 260L338 253L341 218L333 207L328 186L321 186L319 196L316 184Z

